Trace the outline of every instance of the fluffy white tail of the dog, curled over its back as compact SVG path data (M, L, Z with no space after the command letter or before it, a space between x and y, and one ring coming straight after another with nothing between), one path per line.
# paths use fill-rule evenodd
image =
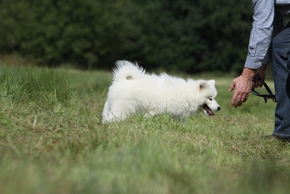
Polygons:
M137 63L117 61L113 70L113 81L133 80L145 74L145 70Z

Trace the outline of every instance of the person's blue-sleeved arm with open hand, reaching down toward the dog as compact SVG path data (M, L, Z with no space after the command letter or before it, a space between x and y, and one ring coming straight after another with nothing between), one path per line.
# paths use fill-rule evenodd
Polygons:
M234 91L231 106L239 107L247 101L255 86L252 79L262 66L273 32L275 17L274 0L253 0L253 24L248 46L248 55L242 74L236 77L229 88Z

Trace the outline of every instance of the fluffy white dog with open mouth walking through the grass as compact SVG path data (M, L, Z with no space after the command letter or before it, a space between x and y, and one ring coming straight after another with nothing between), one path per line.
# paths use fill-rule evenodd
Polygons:
M214 80L193 80L147 74L128 61L117 61L113 83L103 110L103 123L124 120L132 114L155 115L169 113L183 120L200 112L214 116L220 110L215 101L217 90Z

